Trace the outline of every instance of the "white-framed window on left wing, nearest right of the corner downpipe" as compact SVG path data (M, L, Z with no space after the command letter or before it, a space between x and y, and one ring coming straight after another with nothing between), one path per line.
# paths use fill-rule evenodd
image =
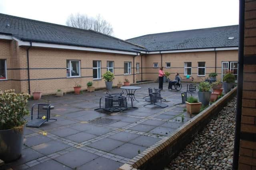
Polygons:
M79 77L80 76L80 61L67 60L67 77Z

